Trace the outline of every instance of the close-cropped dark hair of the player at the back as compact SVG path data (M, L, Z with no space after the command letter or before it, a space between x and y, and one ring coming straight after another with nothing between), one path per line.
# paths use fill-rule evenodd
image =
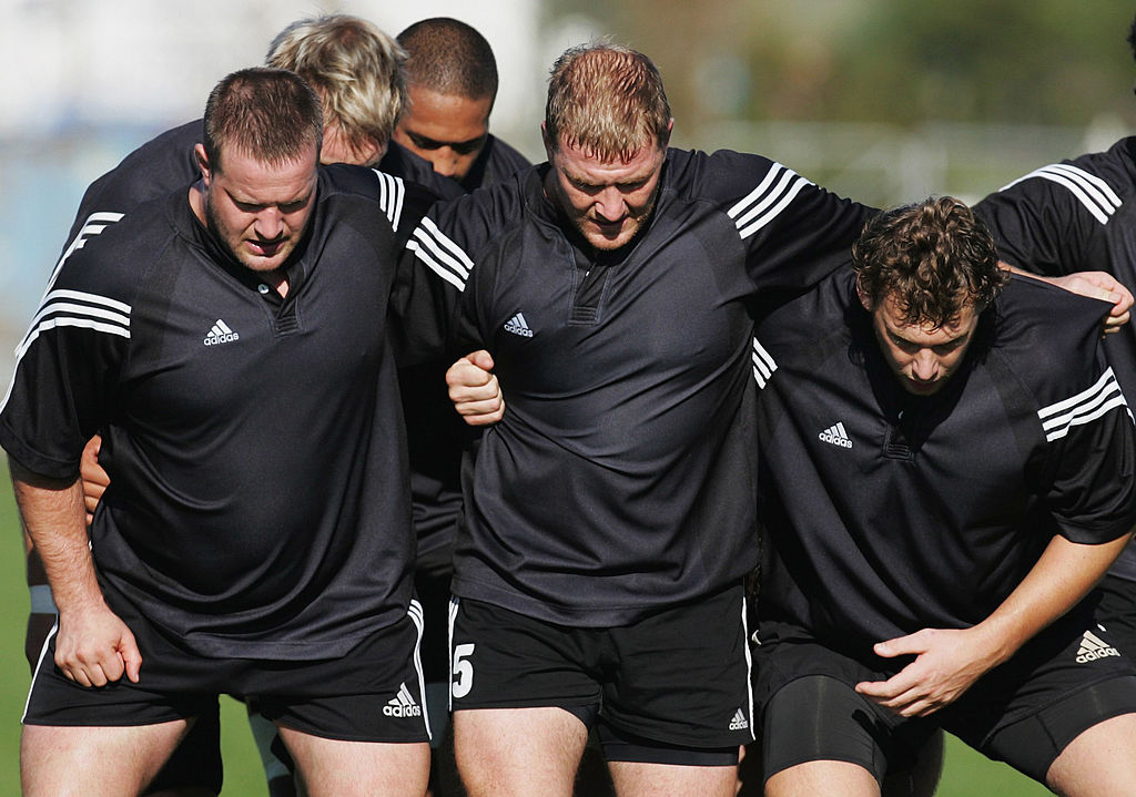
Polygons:
M434 17L399 34L407 51L407 81L438 94L469 100L496 97L496 59L485 36L463 22Z

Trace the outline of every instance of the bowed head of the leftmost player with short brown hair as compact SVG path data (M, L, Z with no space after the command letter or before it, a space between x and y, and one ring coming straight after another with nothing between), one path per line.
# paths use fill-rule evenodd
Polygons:
M315 205L318 98L291 72L242 69L209 95L204 131L195 149L202 177L198 218L245 268L282 268Z

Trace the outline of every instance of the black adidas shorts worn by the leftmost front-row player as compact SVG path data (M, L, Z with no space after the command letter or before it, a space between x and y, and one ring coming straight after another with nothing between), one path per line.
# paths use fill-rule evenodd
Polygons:
M317 661L207 658L176 646L136 613L119 616L142 653L139 683L101 688L68 680L53 664L56 631L32 678L24 722L145 725L216 712L217 696L247 700L277 724L329 739L412 743L429 738L418 647L421 610Z

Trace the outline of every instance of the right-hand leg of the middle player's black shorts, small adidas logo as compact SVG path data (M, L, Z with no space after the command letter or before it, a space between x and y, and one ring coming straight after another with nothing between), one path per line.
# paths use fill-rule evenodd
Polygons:
M607 634L617 670L604 685L602 722L624 737L676 748L725 749L726 758L713 765L730 758L736 764L738 746L754 738L741 582Z

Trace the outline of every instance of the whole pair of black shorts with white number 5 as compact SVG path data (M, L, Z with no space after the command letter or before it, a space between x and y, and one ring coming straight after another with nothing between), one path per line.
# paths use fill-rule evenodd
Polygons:
M616 628L569 628L456 598L450 635L454 711L557 706L585 724L598 716L605 753L623 761L736 764L737 746L753 739L741 585Z

